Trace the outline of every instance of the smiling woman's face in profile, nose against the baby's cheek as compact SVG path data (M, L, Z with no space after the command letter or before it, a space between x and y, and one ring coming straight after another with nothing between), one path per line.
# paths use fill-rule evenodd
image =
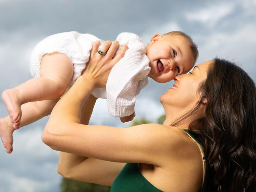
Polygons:
M181 74L174 79L173 87L160 97L160 102L165 109L177 107L192 109L200 100L198 87L207 78L207 71L213 61L207 61L193 68L191 73Z

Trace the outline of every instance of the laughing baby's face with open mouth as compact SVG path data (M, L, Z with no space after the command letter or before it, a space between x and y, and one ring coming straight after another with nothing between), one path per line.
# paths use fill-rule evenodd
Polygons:
M156 34L146 51L151 67L148 77L158 83L169 82L177 75L189 72L194 65L192 50L181 35Z

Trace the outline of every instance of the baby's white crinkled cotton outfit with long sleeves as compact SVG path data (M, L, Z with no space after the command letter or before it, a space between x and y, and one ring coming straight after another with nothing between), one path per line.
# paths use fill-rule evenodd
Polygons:
M43 55L53 52L66 54L74 66L74 74L67 88L69 90L89 61L92 43L97 40L101 42L101 45L104 43L104 40L100 40L94 35L89 33L82 34L76 31L57 33L46 37L32 51L30 57L32 76L39 78ZM126 44L129 49L124 57L111 69L106 87L96 88L92 94L97 98L107 100L108 110L111 115L124 117L134 113L136 95L148 85L147 75L151 68L145 45L138 35L120 33L116 40L120 44L119 50L123 44Z

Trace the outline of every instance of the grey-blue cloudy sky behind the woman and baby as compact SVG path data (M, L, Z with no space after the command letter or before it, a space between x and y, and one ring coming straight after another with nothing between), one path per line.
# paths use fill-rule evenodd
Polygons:
M30 79L29 58L35 44L64 31L92 33L104 40L133 32L147 44L155 33L181 30L198 44L197 64L215 56L230 59L256 81L255 10L256 0L1 0L0 92ZM172 85L150 79L137 97L136 118L155 121L163 114L159 96ZM6 115L1 101L0 117ZM59 191L59 153L41 141L47 120L15 131L11 155L0 147L1 192ZM109 115L104 100L97 101L91 124L129 125Z

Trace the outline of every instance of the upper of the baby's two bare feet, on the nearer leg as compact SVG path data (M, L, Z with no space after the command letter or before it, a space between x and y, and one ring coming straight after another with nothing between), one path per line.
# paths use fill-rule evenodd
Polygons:
M6 89L2 93L2 100L6 105L12 123L20 124L21 109L17 89Z

